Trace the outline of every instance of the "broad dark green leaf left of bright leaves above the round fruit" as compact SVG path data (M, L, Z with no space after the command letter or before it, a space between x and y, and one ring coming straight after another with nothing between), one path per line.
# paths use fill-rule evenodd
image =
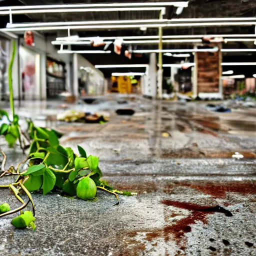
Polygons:
M55 165L62 165L65 166L68 161L67 152L66 150L58 145L55 149L54 147L47 147L46 148L50 154L48 158L46 159L45 163L49 166L51 165L54 167Z

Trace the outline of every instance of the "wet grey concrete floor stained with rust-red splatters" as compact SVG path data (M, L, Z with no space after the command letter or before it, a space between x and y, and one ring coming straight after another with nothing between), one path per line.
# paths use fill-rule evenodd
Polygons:
M120 97L69 105L109 111L105 124L47 125L64 132L62 145L98 155L104 179L138 195L113 206L114 196L101 191L96 201L33 194L36 231L1 218L0 255L255 255L256 110L216 113L205 102L143 98L118 104ZM18 112L45 125L60 103L21 102ZM114 112L127 107L135 114ZM3 139L0 147L8 164L24 158ZM231 158L235 151L244 158ZM7 189L0 189L3 201L17 205Z

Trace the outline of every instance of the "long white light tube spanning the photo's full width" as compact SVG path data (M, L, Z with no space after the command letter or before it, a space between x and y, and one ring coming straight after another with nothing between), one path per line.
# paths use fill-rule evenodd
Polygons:
M59 10L59 9L58 9ZM67 9L72 11L72 9ZM120 9L118 9L120 10ZM132 10L127 8L127 10ZM137 8L142 10L142 8ZM90 10L91 11L91 10ZM64 12L64 11L61 11ZM65 11L66 12L66 11ZM43 12L44 13L44 12ZM1 13L0 13L1 14ZM256 25L256 22L198 22L198 23L159 23L159 24L143 24L146 27L199 27L199 26L237 26L237 25ZM74 26L38 26L38 27L17 27L17 28L1 28L0 31L26 31L26 30L65 30L65 29L124 29L124 28L140 28L141 24L115 24L115 25L74 25Z

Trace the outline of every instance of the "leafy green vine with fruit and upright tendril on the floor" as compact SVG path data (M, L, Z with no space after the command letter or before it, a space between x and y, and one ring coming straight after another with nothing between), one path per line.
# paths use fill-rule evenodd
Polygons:
M10 108L12 110L13 120L10 121L8 113L0 109L0 118L6 116L9 124L2 123L0 126L0 135L4 135L8 145L14 146L16 140L19 140L20 147L25 153L29 148L28 156L21 161L16 168L13 166L5 169L6 155L0 149L3 156L0 170L0 178L4 176L16 177L15 182L0 185L0 188L9 188L15 195L21 205L15 209L10 209L8 203L0 205L0 217L20 211L20 215L11 220L17 228L32 227L35 229L35 206L31 192L61 192L68 196L76 196L80 199L90 200L95 198L97 189L114 194L119 204L117 194L136 195L137 193L129 191L119 191L113 189L106 181L102 180L102 172L98 166L98 157L94 155L87 156L86 151L77 146L79 155L75 154L70 147L63 147L59 144L59 138L62 134L59 132L36 127L31 120L27 120L27 130L21 131L18 115L14 114L13 92L11 68L15 56L16 45L13 42L13 51L9 64L9 88L10 88ZM25 142L26 141L26 142ZM25 164L28 167L24 171ZM25 193L27 201L21 198L21 193ZM22 211L29 202L32 205L31 211Z

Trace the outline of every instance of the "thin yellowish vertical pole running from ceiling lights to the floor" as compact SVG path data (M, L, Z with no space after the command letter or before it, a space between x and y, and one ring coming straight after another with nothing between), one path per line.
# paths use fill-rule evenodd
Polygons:
M159 19L162 19L162 10L159 14ZM158 43L158 71L157 71L157 98L162 98L162 27L158 28L159 43Z

